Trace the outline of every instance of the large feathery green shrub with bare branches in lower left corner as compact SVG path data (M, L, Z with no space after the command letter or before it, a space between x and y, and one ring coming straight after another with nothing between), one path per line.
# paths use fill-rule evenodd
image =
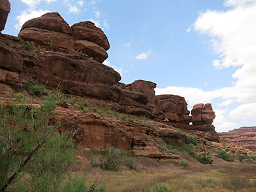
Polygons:
M0 191L58 191L74 162L76 146L49 119L51 95L33 110L26 104L0 105ZM22 172L26 172L25 183Z

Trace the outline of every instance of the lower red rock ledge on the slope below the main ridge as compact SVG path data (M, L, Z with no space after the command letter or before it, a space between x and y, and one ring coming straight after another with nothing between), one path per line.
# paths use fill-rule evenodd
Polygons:
M156 141L161 142L158 132L152 126L142 123L102 117L96 113L81 113L72 107L57 107L52 121L63 125L62 128L69 130L71 134L75 133L76 140L85 148L116 147L145 157L179 158L173 153L163 154L154 145ZM165 138L179 137L171 134L172 130L166 132L167 134L161 134ZM150 139L145 140L145 137Z

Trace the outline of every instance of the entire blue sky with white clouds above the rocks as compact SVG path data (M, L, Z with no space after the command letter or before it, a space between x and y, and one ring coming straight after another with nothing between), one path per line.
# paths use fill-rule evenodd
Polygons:
M110 41L104 62L121 82L158 84L189 110L211 103L217 131L256 125L256 0L9 0L3 33L59 12L72 26L91 20Z

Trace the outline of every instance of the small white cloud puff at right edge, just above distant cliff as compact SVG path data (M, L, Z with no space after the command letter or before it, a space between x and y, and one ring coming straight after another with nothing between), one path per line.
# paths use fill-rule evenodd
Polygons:
M256 119L256 103L243 104L230 111L232 119Z

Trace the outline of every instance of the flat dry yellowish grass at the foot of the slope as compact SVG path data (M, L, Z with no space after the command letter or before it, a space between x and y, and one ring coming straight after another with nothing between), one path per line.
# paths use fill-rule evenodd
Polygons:
M229 163L213 157L214 163L205 165L188 159L190 165L182 166L174 160L134 157L137 170L122 166L108 171L91 167L82 158L73 174L84 176L86 172L87 183L104 183L105 191L256 191L256 164L237 160Z

